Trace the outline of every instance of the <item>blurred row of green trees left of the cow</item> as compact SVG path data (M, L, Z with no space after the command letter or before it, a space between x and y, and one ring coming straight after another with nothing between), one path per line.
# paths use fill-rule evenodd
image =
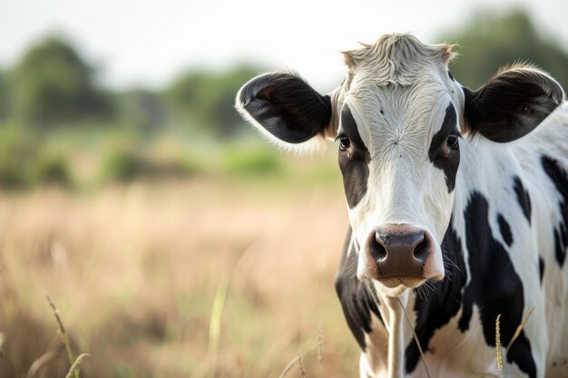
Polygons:
M48 36L15 67L0 71L0 121L43 129L125 123L142 131L178 121L230 137L240 124L232 108L235 93L260 71L245 64L221 73L188 70L162 91L119 92L100 84L96 70L73 44Z

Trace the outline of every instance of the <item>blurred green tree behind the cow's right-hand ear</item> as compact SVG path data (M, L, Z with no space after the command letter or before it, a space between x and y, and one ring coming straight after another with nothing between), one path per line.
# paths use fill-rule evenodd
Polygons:
M459 44L463 56L450 64L450 71L471 89L482 85L499 66L515 62L535 63L564 88L568 85L568 53L540 34L521 9L505 15L481 11L461 31L443 34L443 39Z

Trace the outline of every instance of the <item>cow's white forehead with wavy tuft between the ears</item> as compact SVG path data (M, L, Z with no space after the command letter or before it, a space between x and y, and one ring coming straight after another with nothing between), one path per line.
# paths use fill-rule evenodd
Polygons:
M391 138L377 141L409 135L431 139L440 126L431 118L441 116L437 113L445 111L450 97L460 100L447 73L451 50L449 44L422 44L411 34L387 34L375 44L345 52L348 76L333 96L336 114L343 102L349 103L367 143L381 132Z

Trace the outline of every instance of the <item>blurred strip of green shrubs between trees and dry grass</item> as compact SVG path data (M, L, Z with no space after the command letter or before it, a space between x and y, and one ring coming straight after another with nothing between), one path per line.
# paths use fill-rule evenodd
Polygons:
M335 149L299 158L257 135L219 141L175 128L143 134L119 125L38 131L5 124L0 125L0 188L81 190L196 177L319 185L340 179Z

